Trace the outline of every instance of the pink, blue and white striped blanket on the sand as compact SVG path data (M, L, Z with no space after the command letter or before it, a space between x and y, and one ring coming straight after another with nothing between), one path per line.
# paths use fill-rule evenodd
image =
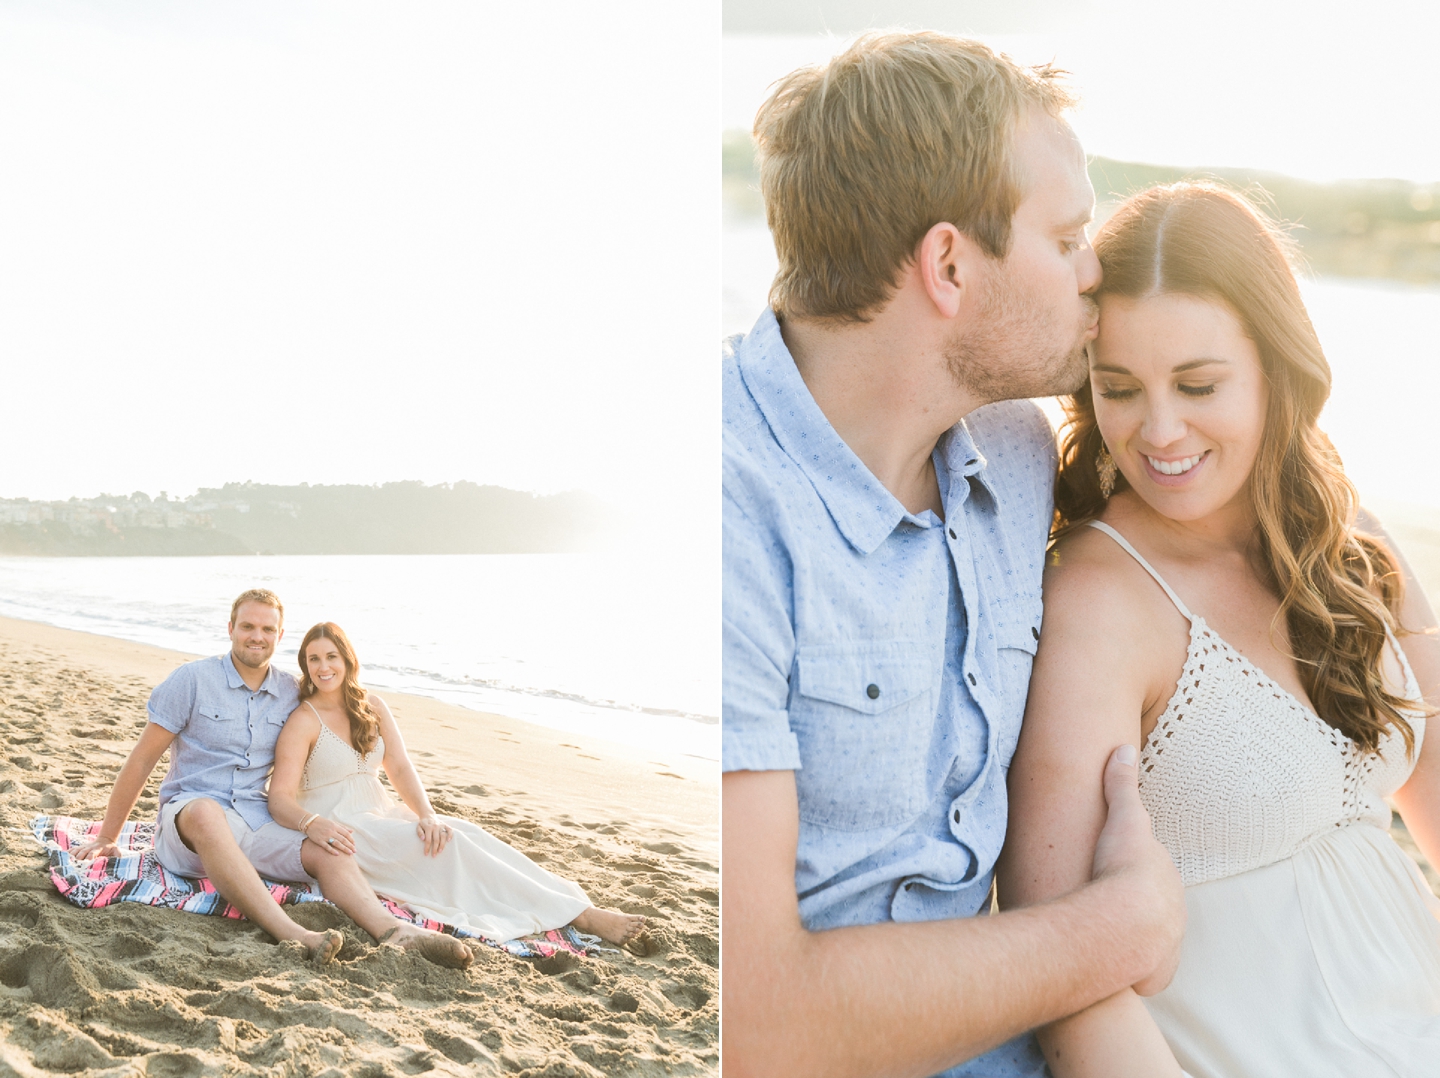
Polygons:
M71 858L71 848L96 838L99 820L36 816L30 820L30 832L50 856L50 881L55 888L75 905L98 910L115 902L140 902L189 914L245 920L239 910L220 897L209 879L190 879L166 871L153 849L154 823L131 820L121 828L120 839L115 843L124 852L117 858L95 858L94 861L75 861ZM281 905L325 901L314 884L287 884L275 879L264 879L262 882ZM480 940L520 959L547 959L557 951L586 954L602 950L599 937L586 936L570 925L553 928L544 936L498 941L490 940L472 928L432 921L389 898L380 897L380 901L392 914L410 924L467 940Z

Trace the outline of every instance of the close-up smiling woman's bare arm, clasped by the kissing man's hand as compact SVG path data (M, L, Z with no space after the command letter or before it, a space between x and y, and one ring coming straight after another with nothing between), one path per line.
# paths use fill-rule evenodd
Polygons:
M1068 560L1045 574L1044 632L1009 769L1009 828L999 862L1007 908L1068 894L1092 878L1106 813L1096 776L1116 744L1139 747L1140 715L1158 692L1148 675L1156 663L1146 656L1156 638L1174 643L1158 628L1168 623L1159 619L1178 615L1149 577L1136 576L1138 566L1130 573L1129 566L1107 564L1109 551L1097 548L1097 540L1107 540L1099 533L1077 540L1063 550ZM1115 554L1125 557L1119 548ZM1176 671L1182 662L1179 656ZM1136 989L1151 993L1166 982L1164 976ZM1179 1077L1136 989L1037 1031L1056 1078Z

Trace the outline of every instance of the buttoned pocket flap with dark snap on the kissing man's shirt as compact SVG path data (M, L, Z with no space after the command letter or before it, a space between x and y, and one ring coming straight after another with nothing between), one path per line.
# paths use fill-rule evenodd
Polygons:
M799 692L878 715L930 691L939 658L930 661L924 652L922 643L801 648Z

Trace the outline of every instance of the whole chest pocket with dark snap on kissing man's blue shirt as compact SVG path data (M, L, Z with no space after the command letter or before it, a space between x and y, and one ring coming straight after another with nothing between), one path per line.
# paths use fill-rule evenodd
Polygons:
M924 809L940 666L926 651L907 642L799 649L789 712L802 820L870 830Z

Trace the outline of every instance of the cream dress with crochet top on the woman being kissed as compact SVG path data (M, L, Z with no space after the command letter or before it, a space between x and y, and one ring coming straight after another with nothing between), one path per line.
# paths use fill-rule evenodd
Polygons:
M1139 764L1185 881L1179 970L1146 1000L1179 1065L1194 1078L1440 1075L1440 901L1388 833L1385 797L1413 767L1404 741L1364 754L1093 527L1191 623ZM1418 756L1424 718L1407 717Z

